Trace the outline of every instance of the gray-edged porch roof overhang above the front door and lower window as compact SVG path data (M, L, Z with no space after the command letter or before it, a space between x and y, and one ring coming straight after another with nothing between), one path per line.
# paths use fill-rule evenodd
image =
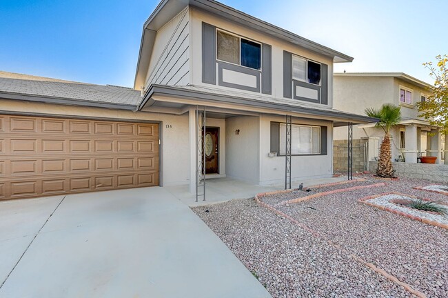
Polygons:
M305 106L300 102L289 102L290 99L276 99L254 95L244 97L236 92L224 90L209 90L194 86L161 86L152 85L146 93L138 110L150 111L152 107L172 108L182 110L186 106L207 106L228 110L241 110L260 114L294 115L298 117L313 117L333 121L334 126L347 126L348 123L365 124L377 122L378 119L334 110L332 108L317 108Z

